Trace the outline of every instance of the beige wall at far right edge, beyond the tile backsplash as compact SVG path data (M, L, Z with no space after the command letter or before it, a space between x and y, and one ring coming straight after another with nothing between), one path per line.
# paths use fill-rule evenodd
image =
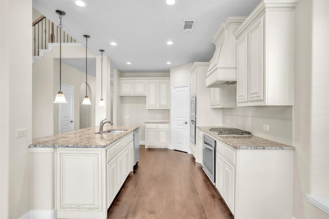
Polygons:
M294 216L328 218L304 193L329 196L329 1L298 1L293 112Z

